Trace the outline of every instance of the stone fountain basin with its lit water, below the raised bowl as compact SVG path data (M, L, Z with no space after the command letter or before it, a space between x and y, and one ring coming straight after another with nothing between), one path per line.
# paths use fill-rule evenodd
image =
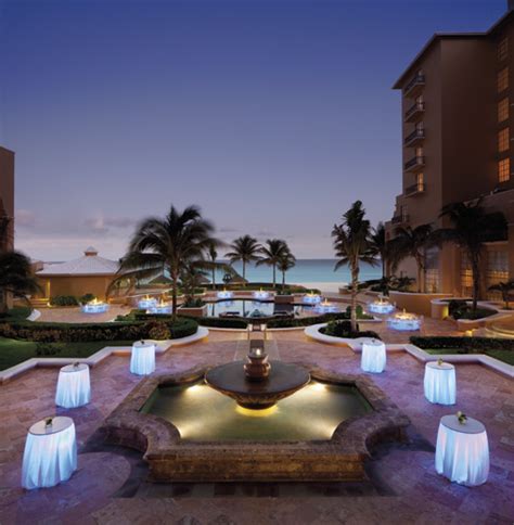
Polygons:
M150 479L154 482L271 482L271 481L362 481L365 479L364 461L376 443L403 439L409 419L398 407L363 375L340 375L320 369L309 370L314 383L280 401L271 409L271 415L243 417L237 414L237 405L227 396L203 383L204 370L191 370L184 374L153 375L142 380L127 398L104 421L102 432L108 443L141 450L149 463ZM313 417L320 414L320 404L325 392L318 392L317 382L338 388L356 389L364 399L368 409L347 414L344 421L332 421L329 428L322 427ZM180 421L175 413L168 418L158 410L152 411L152 404L159 399L159 392L168 388L183 388L183 396L197 399L196 406L183 410L187 420ZM207 398L202 396L206 395ZM262 430L278 425L273 418L281 411L287 413L297 405L301 410L310 399L310 411L300 415L292 413L291 424L280 435L262 434ZM216 396L216 404L211 405ZM233 431L224 434L204 432L202 418L210 414L217 420L219 402L231 408L231 414L253 426L243 436ZM171 405L174 406L174 405ZM195 408L204 409L202 417ZM176 407L177 408L177 407ZM241 409L246 410L246 409ZM264 411L253 411L262 414ZM232 417L231 415L231 417ZM174 420L174 422L170 421ZM234 428L241 430L241 419ZM217 426L224 432L226 420ZM298 428L307 428L310 435L299 435ZM322 431L322 434L319 432ZM313 433L313 434L312 434Z

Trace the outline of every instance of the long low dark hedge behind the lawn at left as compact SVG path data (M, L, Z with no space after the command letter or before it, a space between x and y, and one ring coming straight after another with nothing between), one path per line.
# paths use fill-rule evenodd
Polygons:
M0 324L0 336L43 343L81 341L136 341L149 338L150 331L158 324L149 322L59 323L13 322ZM170 338L187 337L196 333L198 323L190 318L166 322Z

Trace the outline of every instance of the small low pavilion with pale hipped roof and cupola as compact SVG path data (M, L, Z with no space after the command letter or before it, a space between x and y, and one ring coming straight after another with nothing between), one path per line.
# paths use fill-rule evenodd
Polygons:
M43 302L57 295L80 297L86 294L93 294L104 300L118 269L118 261L100 257L98 251L90 246L78 259L67 262L38 262L35 271L44 291Z

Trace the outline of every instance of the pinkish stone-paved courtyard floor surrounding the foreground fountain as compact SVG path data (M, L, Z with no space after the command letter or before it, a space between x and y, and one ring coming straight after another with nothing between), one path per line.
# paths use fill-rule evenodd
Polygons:
M451 333L452 326L439 328ZM425 330L429 332L429 323ZM397 334L380 331L386 341L397 342ZM241 338L231 332L211 332L206 342L158 357L158 370L229 361ZM275 332L272 338L285 361L359 373L359 356L350 349L311 342L296 331ZM445 408L425 400L423 364L404 353L390 354L385 373L373 375L373 381L411 418L410 443L381 446L368 464L369 482L325 485L145 482L138 452L103 446L94 436L103 419L140 381L128 368L128 357L106 359L91 370L92 402L59 410L70 413L77 427L78 471L61 486L30 492L20 487L25 436L33 422L55 412L57 370L33 370L0 386L0 523L514 522L514 383L481 366L458 367L458 405ZM434 470L438 420L457 410L487 427L491 472L480 487L451 484Z

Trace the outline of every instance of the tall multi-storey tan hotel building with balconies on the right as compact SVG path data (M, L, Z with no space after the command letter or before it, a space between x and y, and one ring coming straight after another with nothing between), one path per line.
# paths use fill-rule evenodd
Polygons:
M401 90L402 192L387 222L395 230L431 223L445 205L481 199L502 212L507 239L490 243L484 257L488 286L514 279L514 1L486 33L436 34L396 81ZM413 260L396 273L415 278ZM467 296L472 272L451 245L426 256L424 290Z

